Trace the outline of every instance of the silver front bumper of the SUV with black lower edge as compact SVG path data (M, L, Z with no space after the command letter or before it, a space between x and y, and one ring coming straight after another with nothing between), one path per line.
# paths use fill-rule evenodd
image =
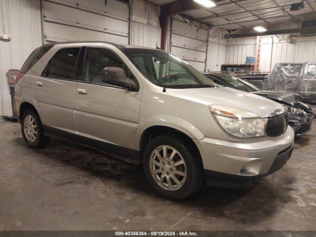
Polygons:
M250 143L211 138L194 141L201 154L207 184L227 187L280 169L291 155L294 132L288 126L281 136Z

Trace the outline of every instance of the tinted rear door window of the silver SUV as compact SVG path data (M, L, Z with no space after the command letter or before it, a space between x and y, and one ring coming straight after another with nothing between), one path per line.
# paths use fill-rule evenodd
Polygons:
M69 79L75 76L75 67L80 48L64 48L50 59L42 72L42 77Z

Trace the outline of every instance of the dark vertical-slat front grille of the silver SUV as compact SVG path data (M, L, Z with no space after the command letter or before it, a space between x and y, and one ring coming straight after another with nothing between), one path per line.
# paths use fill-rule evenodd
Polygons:
M266 134L269 137L276 137L283 134L288 125L287 113L276 117L268 118Z

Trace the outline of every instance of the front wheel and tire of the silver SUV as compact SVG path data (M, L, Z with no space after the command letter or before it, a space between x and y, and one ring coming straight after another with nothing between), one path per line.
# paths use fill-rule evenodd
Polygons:
M175 199L193 195L202 183L202 168L177 137L153 138L143 154L146 177L159 194Z

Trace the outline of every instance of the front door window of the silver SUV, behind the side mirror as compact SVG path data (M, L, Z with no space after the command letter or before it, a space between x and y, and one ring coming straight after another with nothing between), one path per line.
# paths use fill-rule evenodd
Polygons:
M84 60L83 80L96 84L107 84L103 69L107 67L119 67L125 71L127 77L131 77L127 67L110 50L104 48L87 48ZM108 85L108 84L107 84Z

